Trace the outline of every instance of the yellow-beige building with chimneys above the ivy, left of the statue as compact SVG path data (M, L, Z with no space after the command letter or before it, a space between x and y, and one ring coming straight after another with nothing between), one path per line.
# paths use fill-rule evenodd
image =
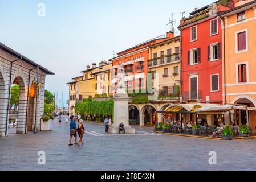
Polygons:
M111 84L108 80L112 63L101 61L97 67L96 63L87 65L86 70L82 71L82 76L72 78L68 82L69 86L69 112L75 114L76 102L82 102L83 99L93 98L95 94L109 93L108 89ZM102 79L101 79L102 78Z

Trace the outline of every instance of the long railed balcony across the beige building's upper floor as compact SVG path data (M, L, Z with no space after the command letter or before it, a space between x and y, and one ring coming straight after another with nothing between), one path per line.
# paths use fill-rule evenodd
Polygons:
M180 61L180 54L149 60L148 67L157 67L164 64L175 63L177 61Z

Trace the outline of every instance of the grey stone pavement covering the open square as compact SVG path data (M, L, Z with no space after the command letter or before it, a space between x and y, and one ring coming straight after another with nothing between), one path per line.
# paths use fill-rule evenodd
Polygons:
M82 147L68 146L69 127L51 132L0 138L0 170L256 170L256 140L221 141L152 133L136 127L134 135L104 133L86 123ZM38 164L46 152L46 165ZM209 151L217 165L209 165Z

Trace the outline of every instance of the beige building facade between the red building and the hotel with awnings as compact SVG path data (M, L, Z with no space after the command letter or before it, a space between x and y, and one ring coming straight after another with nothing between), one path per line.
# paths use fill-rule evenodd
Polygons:
M179 96L180 93L180 36L165 40L149 47L148 68L155 80L159 77L160 94Z

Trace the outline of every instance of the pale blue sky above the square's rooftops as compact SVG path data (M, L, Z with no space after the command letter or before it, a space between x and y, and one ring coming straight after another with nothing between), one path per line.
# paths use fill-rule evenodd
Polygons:
M46 89L64 106L67 82L86 65L108 61L115 53L166 34L171 14L178 27L182 11L213 0L0 0L0 42L54 72ZM45 5L45 16L40 16ZM40 4L39 4L40 5ZM39 15L38 15L39 12ZM179 35L176 28L176 35ZM116 55L115 55L116 56ZM62 106L62 104L60 104Z

